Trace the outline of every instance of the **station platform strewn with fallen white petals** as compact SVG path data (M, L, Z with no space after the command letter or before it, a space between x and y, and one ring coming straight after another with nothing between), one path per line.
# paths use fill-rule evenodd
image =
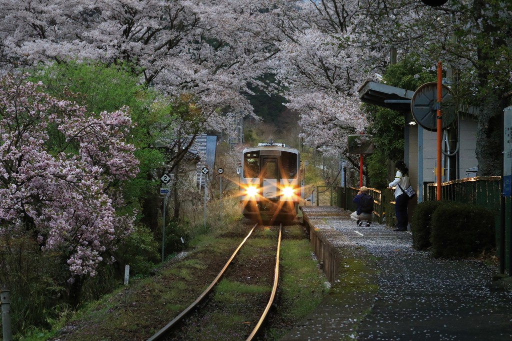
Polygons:
M432 258L412 248L410 232L357 226L337 207L301 210L337 271L322 304L281 341L512 340L509 277L476 260Z

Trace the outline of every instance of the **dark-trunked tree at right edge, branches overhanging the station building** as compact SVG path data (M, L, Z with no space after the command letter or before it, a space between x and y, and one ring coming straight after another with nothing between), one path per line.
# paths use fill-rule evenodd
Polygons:
M422 64L453 70L450 84L461 107L476 108L479 175L502 169L503 108L511 104L512 3L506 0L450 0L440 7L401 0L368 1L367 25L359 28L369 44L417 53Z

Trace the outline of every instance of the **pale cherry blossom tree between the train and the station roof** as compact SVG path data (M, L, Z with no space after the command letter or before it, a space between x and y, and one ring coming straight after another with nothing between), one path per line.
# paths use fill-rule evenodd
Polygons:
M274 69L290 109L301 113L305 142L325 154L344 152L347 135L365 131L357 88L376 52L354 35L356 2L296 2Z

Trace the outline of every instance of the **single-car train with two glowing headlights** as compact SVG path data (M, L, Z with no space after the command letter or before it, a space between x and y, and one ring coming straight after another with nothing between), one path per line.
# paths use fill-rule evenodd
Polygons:
M242 151L242 214L258 222L295 219L303 197L300 153L284 143L259 143Z

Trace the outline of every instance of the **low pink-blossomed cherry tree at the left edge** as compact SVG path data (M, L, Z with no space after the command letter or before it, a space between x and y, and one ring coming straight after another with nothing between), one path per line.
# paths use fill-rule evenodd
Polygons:
M41 92L23 77L0 89L0 233L37 236L43 250L68 257L70 282L94 276L106 251L129 234L135 218L118 215L123 181L138 162L125 143L125 109L86 109Z

